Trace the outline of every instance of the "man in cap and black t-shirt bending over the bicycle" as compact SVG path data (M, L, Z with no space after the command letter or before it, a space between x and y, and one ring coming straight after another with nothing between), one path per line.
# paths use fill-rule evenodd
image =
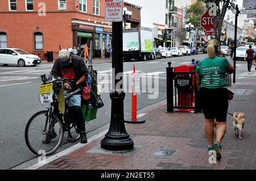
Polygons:
M59 57L52 67L52 74L67 79L69 83L64 83L64 87L72 91L84 86L88 73L89 71L82 58L71 55L68 49L60 50ZM85 121L81 110L81 92L68 98L68 107L71 111L72 119L77 126L77 133L80 133L80 142L81 144L86 144Z

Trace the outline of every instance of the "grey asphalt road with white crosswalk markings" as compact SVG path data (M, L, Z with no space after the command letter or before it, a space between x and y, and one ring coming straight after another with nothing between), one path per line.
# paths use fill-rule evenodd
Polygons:
M142 79L154 80L153 86L147 83L147 93L138 96L137 108L141 110L150 104L160 102L166 99L166 67L168 61L172 61L172 66L190 64L191 59L202 60L207 54L199 54L198 56L183 56L163 58L146 62L134 62L136 70L144 73ZM98 83L106 87L111 85L111 67L110 63L94 64L93 68L98 70ZM240 68L241 67L241 68ZM39 103L38 91L40 85L40 74L48 73L52 64L42 64L36 67L19 68L18 66L0 66L0 169L10 169L21 163L35 158L35 155L28 150L24 141L24 129L28 119L37 111L44 110ZM240 69L239 69L240 68ZM124 79L131 78L133 70L133 62L124 63ZM247 73L245 62L238 62L237 81L242 81L243 77L255 78L255 72ZM147 82L146 81L146 82ZM144 81L145 82L145 81ZM156 89L159 82L159 89ZM130 85L127 82L125 85ZM144 87L144 86L143 86ZM150 89L151 88L151 89ZM156 92L155 99L148 99L148 91ZM110 98L109 92L102 94L105 106L98 110L97 119L86 124L86 131L92 133L97 128L108 124L110 121ZM126 94L125 98L125 119L129 119L131 115L131 93ZM139 111L138 111L139 112ZM93 135L92 135L93 136ZM69 148L73 144L61 146L57 152ZM75 143L74 143L75 144Z

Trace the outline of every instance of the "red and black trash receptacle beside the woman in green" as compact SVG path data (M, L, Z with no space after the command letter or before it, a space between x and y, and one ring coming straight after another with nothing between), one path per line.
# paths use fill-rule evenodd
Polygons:
M174 73L175 88L177 89L177 105L181 109L188 109L188 107L195 106L195 66L176 66L174 67Z

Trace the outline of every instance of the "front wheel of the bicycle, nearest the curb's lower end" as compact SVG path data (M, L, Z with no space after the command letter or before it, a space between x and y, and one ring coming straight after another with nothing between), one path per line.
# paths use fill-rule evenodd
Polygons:
M47 111L35 113L26 125L25 140L28 149L36 155L45 151L46 155L55 152L64 135L63 124L59 117L52 115L51 124L48 121Z

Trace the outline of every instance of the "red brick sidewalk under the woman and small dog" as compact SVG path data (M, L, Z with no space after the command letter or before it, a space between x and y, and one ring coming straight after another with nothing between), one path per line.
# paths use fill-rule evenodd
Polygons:
M248 79L254 81L254 79ZM118 153L100 149L104 136L55 161L40 167L45 169L256 169L256 82L238 82L230 90L246 89L235 95L229 112L245 112L242 140L234 136L233 117L227 117L227 132L222 142L222 159L209 163L208 141L204 133L203 114L166 113L162 106L146 116L144 124L126 124L134 141L135 151ZM236 100L247 98L247 100ZM160 149L174 150L173 155L154 155ZM163 150L163 151L164 151ZM167 152L170 153L170 152Z

